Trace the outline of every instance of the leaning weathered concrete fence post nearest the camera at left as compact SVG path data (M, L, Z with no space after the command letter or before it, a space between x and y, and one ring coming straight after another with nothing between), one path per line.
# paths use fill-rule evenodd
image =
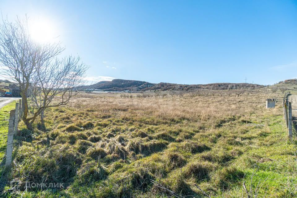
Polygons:
M15 122L15 110L11 110L10 114L9 114L9 123L8 123L7 149L6 149L5 166L10 166L11 165L14 122Z

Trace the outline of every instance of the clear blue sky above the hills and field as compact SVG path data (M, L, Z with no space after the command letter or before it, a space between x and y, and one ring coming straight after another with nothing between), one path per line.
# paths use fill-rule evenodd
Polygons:
M273 84L296 78L296 1L18 1L2 15L51 21L90 80Z

